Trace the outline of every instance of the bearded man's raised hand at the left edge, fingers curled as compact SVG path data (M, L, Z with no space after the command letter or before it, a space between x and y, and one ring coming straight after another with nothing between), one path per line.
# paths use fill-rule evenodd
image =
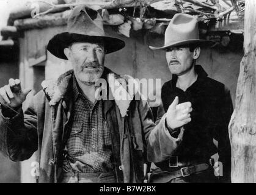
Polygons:
M0 88L0 102L5 107L20 107L30 91L21 90L20 80L9 79L9 85Z

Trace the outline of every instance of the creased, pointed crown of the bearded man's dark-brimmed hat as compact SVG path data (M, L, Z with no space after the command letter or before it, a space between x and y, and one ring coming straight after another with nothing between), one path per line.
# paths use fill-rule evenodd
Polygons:
M103 19L100 14L84 5L77 6L68 18L69 33L89 36L104 36Z

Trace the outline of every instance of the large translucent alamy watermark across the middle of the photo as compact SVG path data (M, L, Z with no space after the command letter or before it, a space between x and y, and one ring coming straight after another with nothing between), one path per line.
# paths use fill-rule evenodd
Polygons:
M159 106L161 103L161 79L115 79L114 74L109 74L108 81L98 79L95 86L97 100L143 100L148 101L150 107Z

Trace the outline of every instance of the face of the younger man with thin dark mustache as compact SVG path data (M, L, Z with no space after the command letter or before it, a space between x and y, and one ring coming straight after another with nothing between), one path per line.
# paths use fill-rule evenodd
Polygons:
M187 73L193 65L193 60L199 57L200 49L189 51L189 48L175 47L166 49L166 60L170 73L178 76Z

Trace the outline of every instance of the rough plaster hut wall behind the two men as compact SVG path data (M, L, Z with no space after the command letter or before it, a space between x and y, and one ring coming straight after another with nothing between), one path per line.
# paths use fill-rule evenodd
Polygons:
M34 71L29 66L29 58L40 57L45 54L46 44L53 35L65 31L66 27L54 27L41 30L29 30L21 39L20 54L20 77L24 81L24 87L35 85ZM118 35L112 31L112 27L106 27L106 34L120 37L126 41L126 47L120 51L106 55L105 65L119 74L130 74L133 77L161 78L161 83L171 79L171 74L166 65L165 53L163 51L152 51L148 45L159 46L163 44L163 37L148 34L147 32L132 32L130 38ZM239 65L243 54L232 52L220 53L213 49L203 49L198 63L203 65L207 73L213 79L219 80L227 85L235 97L235 88L238 78ZM60 74L71 69L67 60L60 60L47 52L45 66L45 79L56 79ZM31 98L28 98L27 103ZM22 165L21 181L34 182L31 177L31 162L27 160Z

